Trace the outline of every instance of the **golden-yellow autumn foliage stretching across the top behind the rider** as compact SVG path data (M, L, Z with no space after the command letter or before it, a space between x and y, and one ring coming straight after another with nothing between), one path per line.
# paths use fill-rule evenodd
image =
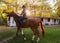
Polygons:
M58 17L60 16L60 1L57 0L56 6L56 13L52 13L50 4L46 3L47 0L25 0L25 1L17 1L17 0L0 0L1 2L6 4L6 8L3 6L3 10L6 10L7 12L11 12L12 10L15 12L18 12L19 9L21 9L23 4L28 5L28 7L32 6L31 15L33 16L42 16L42 17ZM19 4L20 3L20 4ZM57 15L58 14L58 15Z

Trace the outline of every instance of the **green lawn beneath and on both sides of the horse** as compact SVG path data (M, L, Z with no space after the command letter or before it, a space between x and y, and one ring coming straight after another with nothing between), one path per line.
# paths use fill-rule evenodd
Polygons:
M31 37L33 35L33 32L31 31L31 29L23 30L27 37L26 41L23 41L23 36L20 35L18 38L11 39L7 43L31 43ZM15 33L16 28L3 30L2 32L0 32L0 40L12 36ZM40 37L41 37L40 43L60 43L60 26L46 26L45 37L42 38L42 35Z

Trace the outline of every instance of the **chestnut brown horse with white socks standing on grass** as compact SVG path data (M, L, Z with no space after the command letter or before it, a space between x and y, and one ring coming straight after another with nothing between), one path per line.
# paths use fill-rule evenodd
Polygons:
M34 35L32 37L32 41L34 41L35 36L37 36L37 42L39 41L39 32L38 32L38 27L41 27L42 30L42 35L44 36L44 29L43 29L43 25L42 22L40 20L40 18L36 18L36 17L27 17L26 21L23 23L23 26L20 25L19 23L19 16L15 13L15 12L9 12L8 16L12 16L16 22L16 26L17 26L17 32L16 32L16 36L18 36L18 33L21 32L21 28L28 28L30 27L31 30L33 31Z

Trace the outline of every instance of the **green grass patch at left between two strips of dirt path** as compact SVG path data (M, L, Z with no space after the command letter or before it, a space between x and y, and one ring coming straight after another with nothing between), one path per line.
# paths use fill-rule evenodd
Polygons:
M15 34L16 29L3 29L0 31L0 41Z

